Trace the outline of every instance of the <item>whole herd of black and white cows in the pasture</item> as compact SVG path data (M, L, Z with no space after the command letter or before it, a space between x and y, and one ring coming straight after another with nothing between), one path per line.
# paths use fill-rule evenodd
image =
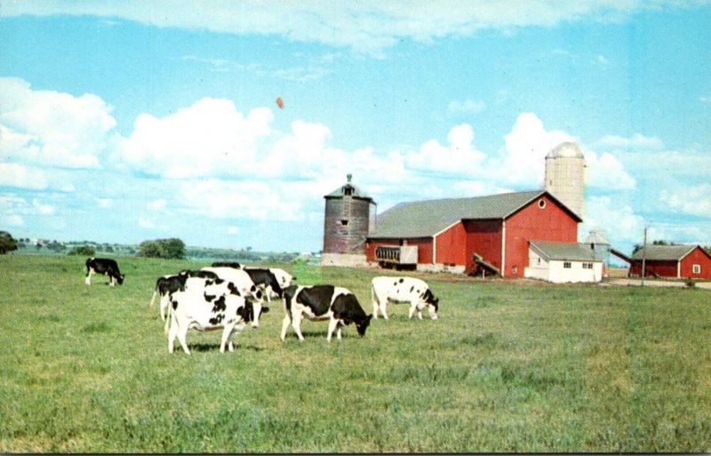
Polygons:
M108 276L111 286L124 283L124 275L116 260L86 260L85 284L92 283L92 274ZM439 300L418 278L374 277L371 281L371 315L365 314L356 295L346 288L330 284L292 284L295 280L296 277L281 268L252 268L234 262L215 262L209 268L186 269L176 275L158 277L150 305L153 306L156 297L160 298L160 316L165 321L168 351L173 352L178 338L188 355L186 336L190 329L222 329L220 352L224 353L225 348L234 351L233 333L241 332L247 324L259 327L260 315L269 311L268 303L273 299L284 300L282 341L290 325L299 340L304 340L301 334L304 318L328 320L329 342L333 332L340 340L342 327L351 323L356 324L358 334L363 336L371 318L377 319L379 312L387 319L388 302L409 303L409 318L417 312L422 319L422 310L427 308L429 316L437 319Z

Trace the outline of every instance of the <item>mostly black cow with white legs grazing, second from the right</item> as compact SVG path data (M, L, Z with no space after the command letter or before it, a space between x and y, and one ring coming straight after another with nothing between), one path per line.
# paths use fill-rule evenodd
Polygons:
M329 320L328 337L331 342L333 331L337 330L340 340L342 326L355 323L358 334L363 337L371 316L365 315L356 295L345 288L333 285L292 285L284 290L284 322L282 324L282 341L286 338L286 330L291 323L299 340L304 340L301 334L301 320L306 316L311 321Z

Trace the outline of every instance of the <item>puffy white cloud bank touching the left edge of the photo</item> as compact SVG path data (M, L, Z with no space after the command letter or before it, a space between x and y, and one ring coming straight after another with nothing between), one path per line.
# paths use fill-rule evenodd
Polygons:
M96 95L35 91L18 78L0 78L0 152L20 163L99 168L116 120Z

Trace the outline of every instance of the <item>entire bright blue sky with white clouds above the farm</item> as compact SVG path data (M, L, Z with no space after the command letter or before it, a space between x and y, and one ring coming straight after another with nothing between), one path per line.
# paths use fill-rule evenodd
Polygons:
M708 1L7 1L0 43L15 238L318 252L348 173L384 212L574 141L580 241L711 245Z

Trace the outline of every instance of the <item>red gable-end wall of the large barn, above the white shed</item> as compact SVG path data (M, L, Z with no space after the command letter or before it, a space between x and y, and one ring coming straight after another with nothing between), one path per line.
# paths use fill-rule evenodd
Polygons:
M539 200L546 202L539 206ZM528 266L529 241L578 242L578 221L547 195L532 201L506 220L504 276L523 277ZM515 272L514 272L515 270Z

